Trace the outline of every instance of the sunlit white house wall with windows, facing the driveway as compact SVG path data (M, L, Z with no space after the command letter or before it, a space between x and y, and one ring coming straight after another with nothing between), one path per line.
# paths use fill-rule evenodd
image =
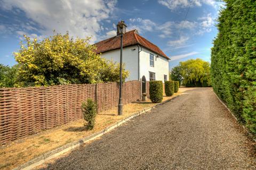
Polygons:
M154 55L154 67L150 66L150 54ZM167 80L169 80L169 61L162 56L156 56L156 53L142 47L142 51L140 52L140 78L145 75L146 80L149 81L149 72L154 72L156 80L162 80L164 82L164 75L167 75Z

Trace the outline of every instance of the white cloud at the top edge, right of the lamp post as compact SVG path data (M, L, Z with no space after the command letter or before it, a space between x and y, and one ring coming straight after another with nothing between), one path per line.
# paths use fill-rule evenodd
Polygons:
M202 4L207 4L215 7L214 0L158 0L158 3L168 7L172 11L179 7L189 7L189 5L202 6Z

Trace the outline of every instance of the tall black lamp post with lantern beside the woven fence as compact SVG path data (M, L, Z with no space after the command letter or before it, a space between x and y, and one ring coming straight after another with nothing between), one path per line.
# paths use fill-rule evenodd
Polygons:
M126 32L126 25L124 21L118 22L117 35L121 35L121 53L120 53L120 70L119 70L119 100L118 100L118 115L123 114L123 104L122 104L122 65L123 65L123 35Z

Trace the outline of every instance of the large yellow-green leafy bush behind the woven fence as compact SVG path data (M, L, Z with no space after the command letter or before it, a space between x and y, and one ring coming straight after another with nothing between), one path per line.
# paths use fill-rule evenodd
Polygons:
M15 60L20 64L19 87L97 83L119 80L119 65L95 53L86 39L55 34L38 42L24 35ZM118 71L117 71L118 70ZM123 80L129 73L123 70ZM118 77L118 78L117 78Z

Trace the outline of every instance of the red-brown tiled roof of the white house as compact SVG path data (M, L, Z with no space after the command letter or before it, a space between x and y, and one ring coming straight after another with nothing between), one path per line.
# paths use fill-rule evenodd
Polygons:
M104 53L110 50L119 49L120 36L115 36L115 37L105 39L94 45L97 47L96 53ZM151 50L152 52L155 52L156 54L161 55L167 58L168 60L170 60L170 58L167 57L159 47L157 47L153 43L150 43L147 39L138 35L137 30L126 32L123 35L123 47L128 47L132 45L141 45L142 47L145 47Z

